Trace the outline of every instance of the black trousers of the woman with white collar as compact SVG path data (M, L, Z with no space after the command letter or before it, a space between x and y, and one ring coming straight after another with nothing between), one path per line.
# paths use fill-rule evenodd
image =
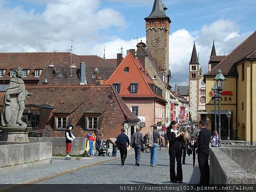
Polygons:
M170 157L170 181L176 182L176 181L183 180L180 148L177 148L177 149L169 148L169 157ZM175 174L175 158L177 161L177 175Z

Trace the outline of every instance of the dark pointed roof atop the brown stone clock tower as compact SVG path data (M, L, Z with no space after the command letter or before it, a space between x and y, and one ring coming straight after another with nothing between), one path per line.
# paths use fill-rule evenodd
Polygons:
M164 8L165 7L165 8ZM148 17L145 17L144 19L157 19L157 18L167 18L169 22L171 23L171 20L169 17L166 16L165 10L167 9L166 6L164 5L162 0L154 0L154 5L152 12Z

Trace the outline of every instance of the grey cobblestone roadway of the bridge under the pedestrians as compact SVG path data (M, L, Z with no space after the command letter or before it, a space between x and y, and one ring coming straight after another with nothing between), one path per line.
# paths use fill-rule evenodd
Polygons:
M197 160L196 160L197 161ZM192 156L186 156L183 168L183 182L198 184L200 171L198 163L192 166ZM40 182L41 184L70 183L73 184L167 184L170 183L168 149L157 153L157 167L150 166L150 153L142 153L140 166L135 166L134 155L128 156L125 165L120 159L97 164L85 169ZM38 183L39 184L39 183ZM170 183L171 184L171 183Z

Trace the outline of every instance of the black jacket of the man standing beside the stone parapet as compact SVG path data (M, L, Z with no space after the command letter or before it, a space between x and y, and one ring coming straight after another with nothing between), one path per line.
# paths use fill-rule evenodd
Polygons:
M211 132L207 128L202 128L198 134L198 154L203 157L209 157L209 143Z

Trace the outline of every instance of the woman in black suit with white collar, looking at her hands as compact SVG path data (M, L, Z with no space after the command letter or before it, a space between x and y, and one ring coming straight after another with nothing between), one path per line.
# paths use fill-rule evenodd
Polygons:
M170 157L170 180L172 183L183 183L180 141L183 139L183 133L177 130L178 124L172 121L167 128L167 137L169 140L169 157ZM177 161L177 175L175 174L175 157Z

